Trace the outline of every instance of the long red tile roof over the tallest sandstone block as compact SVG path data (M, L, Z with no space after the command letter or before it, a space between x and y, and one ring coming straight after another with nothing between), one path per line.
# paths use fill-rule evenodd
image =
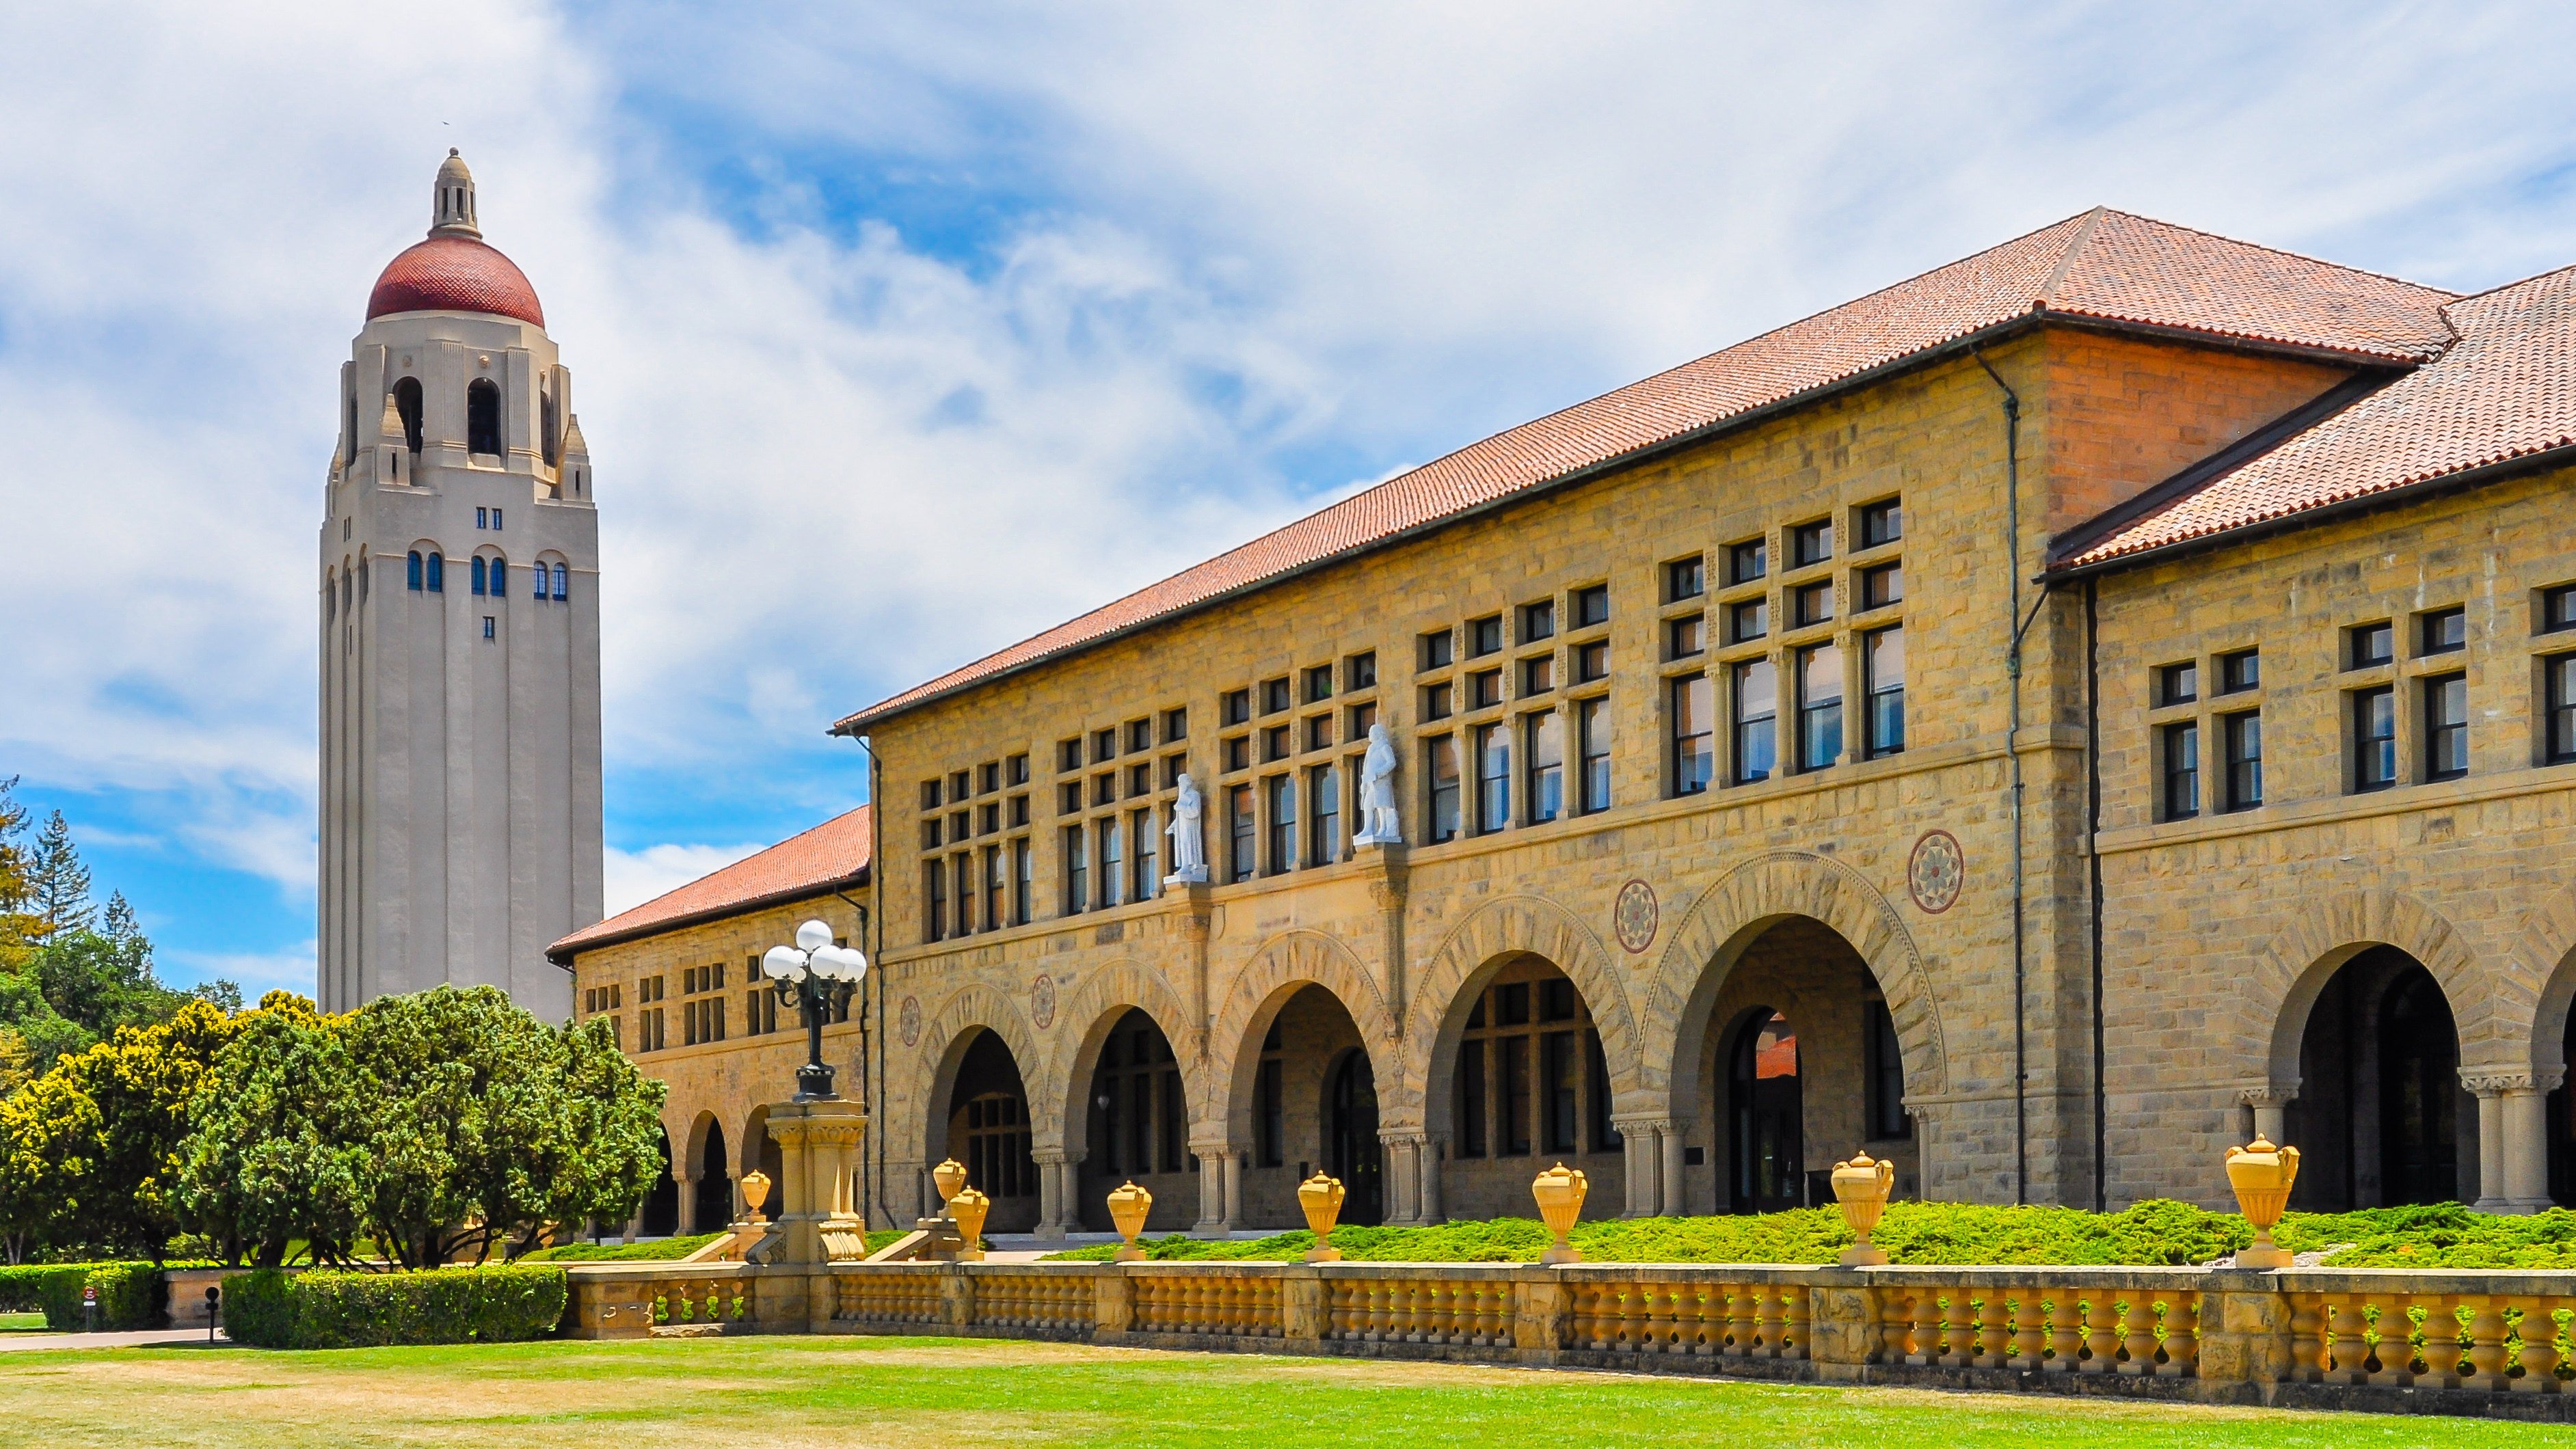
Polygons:
M1749 342L1471 443L1108 607L858 710L863 726L1605 463L1821 396L1963 337L2069 317L2411 365L2452 293L2123 211L2087 211Z

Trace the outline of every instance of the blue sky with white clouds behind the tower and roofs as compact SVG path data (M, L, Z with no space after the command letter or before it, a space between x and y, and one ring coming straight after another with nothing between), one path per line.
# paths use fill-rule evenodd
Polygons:
M312 991L337 365L448 147L574 371L608 909L832 718L1489 432L2120 206L2576 263L2548 5L0 0L0 777Z

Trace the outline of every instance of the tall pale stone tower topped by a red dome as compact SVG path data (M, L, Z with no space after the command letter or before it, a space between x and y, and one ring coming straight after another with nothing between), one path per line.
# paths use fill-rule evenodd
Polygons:
M319 558L319 1001L500 986L600 919L600 610L572 373L474 172L376 278L340 368Z

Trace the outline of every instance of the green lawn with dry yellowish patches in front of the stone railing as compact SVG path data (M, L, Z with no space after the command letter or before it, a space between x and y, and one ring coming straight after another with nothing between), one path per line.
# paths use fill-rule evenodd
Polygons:
M2576 1444L2458 1418L2295 1416L948 1338L0 1356L10 1444Z

